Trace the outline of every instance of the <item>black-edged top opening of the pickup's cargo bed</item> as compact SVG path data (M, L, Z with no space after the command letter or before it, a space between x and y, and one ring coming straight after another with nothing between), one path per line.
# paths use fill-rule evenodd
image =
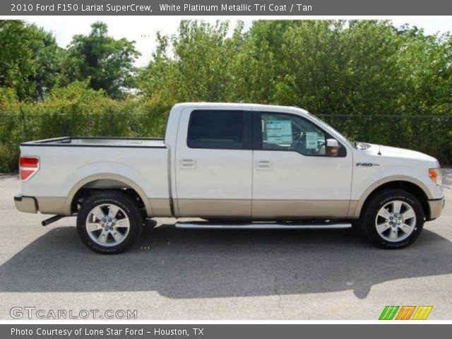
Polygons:
M165 148L162 138L113 138L113 137L70 137L29 141L20 145L29 146L76 146L76 147L152 147Z

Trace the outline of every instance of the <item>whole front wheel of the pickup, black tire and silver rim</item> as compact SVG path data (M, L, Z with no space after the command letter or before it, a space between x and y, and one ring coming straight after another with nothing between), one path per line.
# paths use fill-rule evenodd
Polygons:
M401 249L419 237L424 225L424 210L410 192L388 189L371 196L359 221L363 233L374 246Z

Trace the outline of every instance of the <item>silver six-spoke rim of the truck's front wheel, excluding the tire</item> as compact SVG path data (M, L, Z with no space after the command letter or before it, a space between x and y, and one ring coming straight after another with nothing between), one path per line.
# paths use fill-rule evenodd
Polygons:
M400 242L416 227L414 208L405 201L395 200L380 208L375 218L376 232L388 242Z

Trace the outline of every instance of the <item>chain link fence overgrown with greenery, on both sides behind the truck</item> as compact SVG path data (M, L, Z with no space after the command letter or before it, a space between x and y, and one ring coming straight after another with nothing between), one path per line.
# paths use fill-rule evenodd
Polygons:
M145 136L165 133L168 111L127 109L116 112L39 114L0 113L0 172L17 169L23 141L58 136ZM452 115L317 114L354 141L419 150L452 164Z

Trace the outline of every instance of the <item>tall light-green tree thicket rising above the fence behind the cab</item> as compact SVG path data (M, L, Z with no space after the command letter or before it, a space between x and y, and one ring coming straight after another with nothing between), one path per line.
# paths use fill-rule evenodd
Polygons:
M242 101L315 114L451 112L452 39L388 20L183 21L138 87L164 102Z

